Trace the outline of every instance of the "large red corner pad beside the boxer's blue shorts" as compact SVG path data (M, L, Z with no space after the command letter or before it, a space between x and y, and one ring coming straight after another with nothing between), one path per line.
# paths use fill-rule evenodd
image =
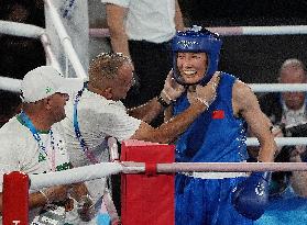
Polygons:
M156 173L156 164L174 162L174 145L138 140L122 143L122 161L144 161L146 165L145 173L122 175L121 177L123 225L175 224L174 173Z

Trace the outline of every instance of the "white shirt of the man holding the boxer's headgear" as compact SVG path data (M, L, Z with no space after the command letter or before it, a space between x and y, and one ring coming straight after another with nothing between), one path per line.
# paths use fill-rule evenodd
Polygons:
M65 140L70 161L74 167L91 165L87 158L74 130L74 97L69 99L65 108L66 119L61 123L65 131ZM90 92L87 89L77 106L78 124L80 133L98 161L109 161L106 137L116 137L119 142L129 139L139 128L141 121L129 116L127 109L120 101ZM97 202L103 194L105 179L96 179L86 182L94 201Z

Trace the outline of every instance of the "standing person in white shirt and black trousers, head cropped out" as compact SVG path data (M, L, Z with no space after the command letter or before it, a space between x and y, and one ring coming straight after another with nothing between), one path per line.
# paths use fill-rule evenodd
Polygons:
M112 49L131 58L140 79L124 103L129 108L143 104L160 93L172 68L169 41L176 30L184 30L178 1L101 1L107 3Z

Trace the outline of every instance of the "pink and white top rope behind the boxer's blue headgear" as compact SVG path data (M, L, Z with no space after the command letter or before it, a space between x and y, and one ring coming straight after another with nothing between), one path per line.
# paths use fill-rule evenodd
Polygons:
M239 35L295 35L307 34L307 25L281 25L281 26L216 26L207 27L221 36ZM90 29L91 37L109 37L108 29Z

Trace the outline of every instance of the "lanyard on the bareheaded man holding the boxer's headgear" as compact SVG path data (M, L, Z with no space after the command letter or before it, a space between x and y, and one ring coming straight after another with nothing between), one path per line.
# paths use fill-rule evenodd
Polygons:
M78 123L78 110L77 110L77 105L78 105L78 102L83 95L83 92L85 90L85 87L83 88L83 90L80 90L77 95L75 97L75 102L74 102L74 128L75 128L75 134L76 134L76 137L77 139L79 140L80 143L80 146L83 148L83 151L85 153L86 157L92 162L92 164L98 164L99 161L96 159L94 153L88 148L83 135L81 135L81 132L80 132L80 128L79 128L79 123Z

